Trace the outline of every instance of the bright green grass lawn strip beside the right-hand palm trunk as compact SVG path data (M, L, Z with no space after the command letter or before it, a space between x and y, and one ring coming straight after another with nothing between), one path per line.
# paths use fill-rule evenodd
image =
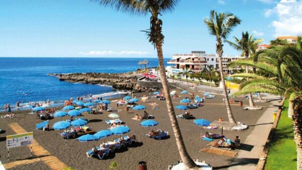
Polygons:
M287 117L288 100L284 101L274 139L271 142L265 169L296 169L296 149L293 141L292 121Z

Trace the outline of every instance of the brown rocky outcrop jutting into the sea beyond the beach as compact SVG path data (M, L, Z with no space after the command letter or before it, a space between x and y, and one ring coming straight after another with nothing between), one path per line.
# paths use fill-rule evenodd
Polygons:
M146 89L137 85L137 79L143 77L133 72L125 73L49 73L49 76L56 76L60 81L79 82L87 84L104 84L112 86L116 90L133 91L135 93L149 92L153 89Z

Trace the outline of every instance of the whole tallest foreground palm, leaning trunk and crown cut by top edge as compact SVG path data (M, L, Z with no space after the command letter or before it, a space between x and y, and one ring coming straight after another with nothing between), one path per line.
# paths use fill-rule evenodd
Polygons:
M138 15L147 15L150 14L150 28L145 31L148 36L148 40L150 43L154 45L158 53L159 65L160 65L160 74L161 81L163 84L164 94L166 97L168 114L170 117L170 121L172 124L172 128L174 131L176 144L179 150L180 157L184 164L188 168L196 167L196 163L188 154L184 140L182 138L182 134L177 122L177 118L174 112L172 99L170 96L168 81L166 76L166 69L164 64L164 56L163 56L163 41L164 35L162 34L162 25L163 21L159 19L159 16L164 14L165 12L172 12L174 7L178 3L178 0L98 0L100 5L113 7L118 11L130 13L130 14L138 14Z

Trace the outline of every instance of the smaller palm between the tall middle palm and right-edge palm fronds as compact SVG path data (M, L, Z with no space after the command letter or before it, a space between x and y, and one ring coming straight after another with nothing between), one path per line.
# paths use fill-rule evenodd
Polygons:
M249 36L249 33L242 32L242 38L238 39L234 37L235 42L225 40L224 42L227 42L231 45L234 49L238 51L242 51L241 56L244 56L246 59L251 56L251 54L254 52L253 50L255 47L258 46L258 44L262 41L262 39L255 39L253 36ZM246 66L246 73L249 73L249 67ZM248 79L249 80L249 79ZM248 94L249 97L249 103L250 107L255 107L253 96L252 94Z

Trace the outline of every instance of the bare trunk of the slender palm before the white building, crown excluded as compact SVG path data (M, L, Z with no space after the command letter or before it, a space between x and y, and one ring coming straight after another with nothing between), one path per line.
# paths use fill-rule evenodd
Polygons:
M221 82L222 82L222 89L223 89L223 95L224 95L224 101L226 105L226 112L228 113L228 118L231 123L236 123L233 114L232 114L232 109L228 97L228 92L226 92L226 86L225 86L225 81L224 81L224 76L223 76L223 67L222 67L222 44L221 42L217 43L216 45L216 52L219 57L219 72L220 72L220 77L221 77Z

